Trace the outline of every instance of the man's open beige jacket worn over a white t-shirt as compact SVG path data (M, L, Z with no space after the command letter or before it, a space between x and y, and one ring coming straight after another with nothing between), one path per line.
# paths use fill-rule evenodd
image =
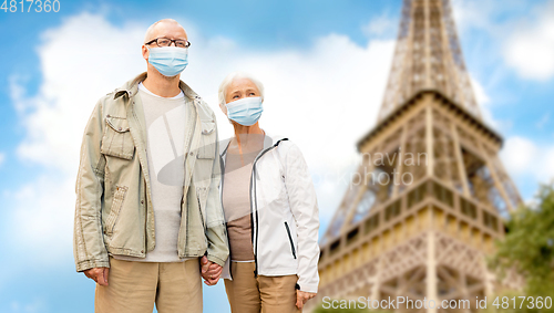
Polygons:
M102 97L86 124L76 178L73 252L78 271L110 267L109 255L144 258L156 244L137 85L143 73ZM184 82L187 102L179 258L224 265L227 233L219 198L220 165L213 111Z

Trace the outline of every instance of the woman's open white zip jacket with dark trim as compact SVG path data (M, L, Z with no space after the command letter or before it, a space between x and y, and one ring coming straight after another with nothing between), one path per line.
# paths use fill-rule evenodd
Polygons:
M222 174L228 142L222 143ZM223 192L225 175L219 190ZM319 216L316 190L300 149L266 133L250 176L252 242L255 275L297 274L297 289L317 292ZM232 279L229 259L222 278Z

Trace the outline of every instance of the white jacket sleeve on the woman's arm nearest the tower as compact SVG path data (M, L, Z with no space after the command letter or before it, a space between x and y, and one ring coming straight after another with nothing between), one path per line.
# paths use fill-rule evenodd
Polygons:
M298 239L298 285L301 291L317 292L319 284L319 210L316 190L300 149L287 143L285 185Z

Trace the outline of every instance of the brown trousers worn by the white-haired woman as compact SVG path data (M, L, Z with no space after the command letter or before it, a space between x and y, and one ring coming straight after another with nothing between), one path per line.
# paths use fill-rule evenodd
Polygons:
M298 313L297 275L254 277L254 262L230 262L232 280L225 290L233 313Z

